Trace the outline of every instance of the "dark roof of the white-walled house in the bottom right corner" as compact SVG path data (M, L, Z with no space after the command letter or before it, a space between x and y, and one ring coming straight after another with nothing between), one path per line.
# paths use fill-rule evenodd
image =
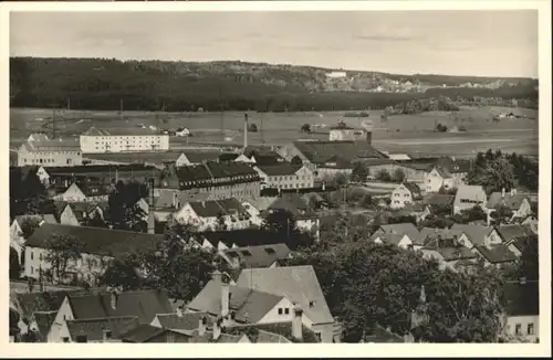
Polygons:
M539 283L507 283L503 286L503 296L509 316L540 315Z

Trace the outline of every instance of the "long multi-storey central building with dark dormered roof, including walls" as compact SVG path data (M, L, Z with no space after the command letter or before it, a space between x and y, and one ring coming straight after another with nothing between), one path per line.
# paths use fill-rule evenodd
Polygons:
M176 189L187 197L208 193L212 199L259 197L261 179L250 166L241 162L213 162L184 166L159 181L154 194ZM157 192L157 193L156 193Z

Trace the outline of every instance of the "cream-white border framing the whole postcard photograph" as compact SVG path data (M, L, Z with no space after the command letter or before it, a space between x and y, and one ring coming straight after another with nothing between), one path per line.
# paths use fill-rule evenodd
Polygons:
M11 11L352 11L352 10L517 10L538 9L540 25L540 345L54 345L8 343L8 327L0 327L1 357L420 357L420 356L551 356L551 8L542 1L223 1L223 2L2 2L0 3L0 114L2 144L1 219L8 229L9 142L9 12ZM467 24L470 27L470 24ZM508 24L505 24L508 25ZM517 56L517 54L513 54ZM509 61L509 59L498 59ZM8 324L8 231L0 262L0 309ZM4 343L6 342L6 343Z

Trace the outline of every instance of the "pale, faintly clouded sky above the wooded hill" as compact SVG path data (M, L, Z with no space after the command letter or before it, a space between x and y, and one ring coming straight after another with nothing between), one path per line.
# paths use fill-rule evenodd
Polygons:
M10 55L538 77L538 11L11 12Z

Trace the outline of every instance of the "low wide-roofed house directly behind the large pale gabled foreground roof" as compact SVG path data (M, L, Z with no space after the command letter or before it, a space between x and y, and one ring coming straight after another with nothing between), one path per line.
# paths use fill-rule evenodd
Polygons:
M286 244L232 247L220 252L230 267L275 267L279 262L292 256Z

